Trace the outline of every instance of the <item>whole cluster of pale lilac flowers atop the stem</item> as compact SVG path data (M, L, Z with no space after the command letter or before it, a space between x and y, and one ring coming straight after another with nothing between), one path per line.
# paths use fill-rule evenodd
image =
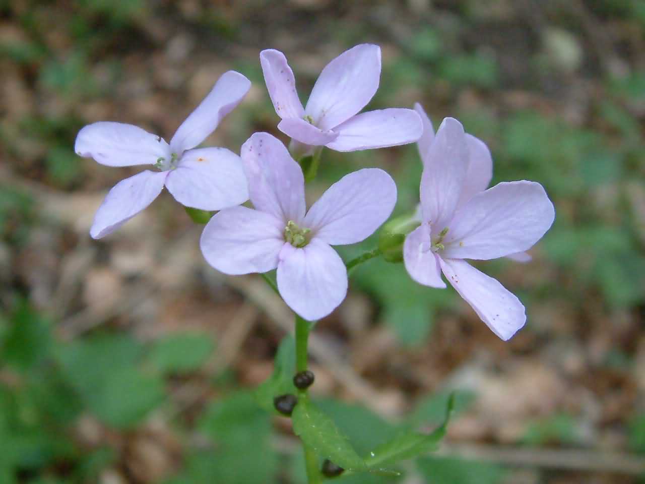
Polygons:
M290 150L267 133L253 134L241 154L196 148L237 106L250 81L226 72L166 143L123 123L94 123L78 134L75 151L109 166L152 165L117 183L90 230L99 239L146 208L163 187L186 207L215 211L201 236L206 261L225 274L277 269L277 288L304 319L323 318L346 296L348 272L333 245L358 243L392 214L397 188L386 172L352 172L308 210L297 160L326 146L341 152L417 142L423 174L421 203L410 217L402 259L423 285L446 287L441 273L497 336L524 325L524 307L495 279L464 259L530 260L532 247L553 223L553 205L538 183L488 188L492 159L486 145L446 118L435 134L421 106L360 113L381 75L381 49L357 45L321 72L303 108L286 57L263 50L268 94L290 136ZM360 113L360 114L359 114ZM295 157L295 159L294 159ZM253 208L242 205L250 199Z

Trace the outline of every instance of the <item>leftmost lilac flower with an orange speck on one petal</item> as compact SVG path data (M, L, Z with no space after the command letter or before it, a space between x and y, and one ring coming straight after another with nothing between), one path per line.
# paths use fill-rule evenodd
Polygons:
M90 235L104 237L148 207L165 186L186 207L221 210L248 199L246 177L236 154L226 148L195 148L237 106L251 83L225 72L211 92L179 126L170 145L134 125L99 122L85 126L74 150L101 165L153 165L117 183L97 210Z

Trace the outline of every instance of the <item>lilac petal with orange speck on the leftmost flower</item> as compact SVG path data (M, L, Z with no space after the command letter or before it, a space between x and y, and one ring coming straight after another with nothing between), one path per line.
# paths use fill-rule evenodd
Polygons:
M242 160L226 148L184 152L179 166L168 173L166 188L186 207L222 210L248 200Z

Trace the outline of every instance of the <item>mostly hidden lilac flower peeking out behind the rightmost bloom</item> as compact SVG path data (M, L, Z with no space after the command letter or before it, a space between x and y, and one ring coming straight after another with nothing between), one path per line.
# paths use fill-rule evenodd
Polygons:
M425 166L428 161L428 150L430 150L430 146L435 139L435 130L430 117L428 117L419 103L415 103L414 110L419 113L423 121L423 134L419 138L419 141L417 141L417 148L419 148L421 162ZM493 157L491 157L486 143L466 133L466 145L468 146L468 170L464 178L464 185L461 189L461 196L459 197L459 201L457 201L457 208L464 205L473 195L486 190L493 178ZM415 217L421 221L421 205L417 207ZM531 260L531 256L526 252L509 254L506 257L522 263Z

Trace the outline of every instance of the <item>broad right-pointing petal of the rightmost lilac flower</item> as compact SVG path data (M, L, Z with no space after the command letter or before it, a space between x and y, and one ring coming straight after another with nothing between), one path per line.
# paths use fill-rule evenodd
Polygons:
M459 208L442 257L496 259L522 252L542 238L554 218L553 204L539 183L499 183Z

